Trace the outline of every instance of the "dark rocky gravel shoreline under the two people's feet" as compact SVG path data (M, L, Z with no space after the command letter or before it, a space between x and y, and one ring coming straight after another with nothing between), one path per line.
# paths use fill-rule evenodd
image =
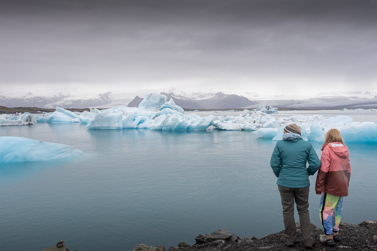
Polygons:
M306 250L302 242L301 229L299 222L296 223L296 243L293 247L288 247L285 243L283 230L267 234L265 237L258 239L256 237L241 239L240 237L229 233L225 228L219 229L211 234L199 234L195 238L195 245L188 245L185 242L178 243L178 247L171 246L167 251L299 251ZM319 235L323 234L321 228L313 223L311 224L313 237L315 241L312 250L317 251L344 251L344 250L377 250L377 221L364 221L360 224L349 224L341 222L339 225L339 234L342 240L336 243L334 247L328 247L320 244ZM63 241L58 242L56 247L45 248L43 251L69 251L65 246L61 246ZM58 247L59 246L59 247ZM75 250L76 251L76 250ZM78 250L80 251L80 250ZM96 250L95 250L96 251ZM132 251L166 251L164 246L148 246L138 244Z

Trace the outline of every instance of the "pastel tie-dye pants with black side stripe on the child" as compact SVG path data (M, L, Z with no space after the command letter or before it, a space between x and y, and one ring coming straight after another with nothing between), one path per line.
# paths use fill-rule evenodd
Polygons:
M322 192L321 201L319 202L319 218L325 234L339 231L342 210L343 197Z

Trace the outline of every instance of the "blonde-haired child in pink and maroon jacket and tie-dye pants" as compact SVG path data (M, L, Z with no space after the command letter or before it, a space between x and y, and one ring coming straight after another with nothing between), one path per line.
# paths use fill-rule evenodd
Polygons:
M348 148L340 131L330 129L322 145L321 166L316 180L316 193L321 195L319 210L323 232L320 243L334 246L340 241L339 223L342 217L343 196L348 196L351 164Z

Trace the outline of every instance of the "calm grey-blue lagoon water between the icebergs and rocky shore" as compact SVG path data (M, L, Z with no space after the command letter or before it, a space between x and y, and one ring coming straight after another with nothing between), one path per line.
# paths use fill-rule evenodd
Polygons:
M85 151L73 159L0 165L0 250L42 250L59 240L83 251L132 250L138 243L168 249L219 228L240 237L284 228L269 164L276 142L252 132L38 124L1 126L0 136ZM320 156L321 144L312 144ZM342 221L376 220L377 144L348 147L352 174ZM320 225L315 176L310 181L311 221Z

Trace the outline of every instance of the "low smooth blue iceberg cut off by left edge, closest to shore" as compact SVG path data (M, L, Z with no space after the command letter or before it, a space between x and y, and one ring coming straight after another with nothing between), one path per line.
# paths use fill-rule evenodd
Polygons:
M0 137L0 164L71 158L83 154L83 151L63 144L22 137Z

